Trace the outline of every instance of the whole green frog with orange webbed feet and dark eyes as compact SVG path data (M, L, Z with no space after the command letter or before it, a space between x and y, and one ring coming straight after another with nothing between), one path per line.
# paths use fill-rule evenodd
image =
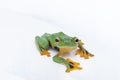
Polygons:
M35 37L36 46L41 55L46 55L50 57L50 48L58 51L56 55L52 57L53 61L59 64L63 64L66 67L66 72L71 72L74 70L81 70L79 62L76 62L70 58L63 58L62 55L70 53L73 50L76 50L75 55L79 55L84 59L89 59L94 55L88 52L84 47L82 40L77 37L71 37L66 35L63 32L56 33L44 33L41 37Z

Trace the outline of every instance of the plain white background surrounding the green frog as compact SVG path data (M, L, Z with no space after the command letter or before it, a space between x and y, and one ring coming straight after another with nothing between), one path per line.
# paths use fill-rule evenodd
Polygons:
M120 2L117 0L0 0L0 80L120 80ZM63 31L95 57L65 73L40 56L34 37ZM54 56L57 52L50 50Z

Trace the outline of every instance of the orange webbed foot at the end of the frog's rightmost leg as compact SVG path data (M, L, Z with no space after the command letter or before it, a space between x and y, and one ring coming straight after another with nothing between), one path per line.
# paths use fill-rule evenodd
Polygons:
M89 59L89 57L93 57L94 55L89 53L88 51L86 50L82 50L82 49L79 49L77 50L76 52L76 55L80 55L80 57L83 57L84 59Z

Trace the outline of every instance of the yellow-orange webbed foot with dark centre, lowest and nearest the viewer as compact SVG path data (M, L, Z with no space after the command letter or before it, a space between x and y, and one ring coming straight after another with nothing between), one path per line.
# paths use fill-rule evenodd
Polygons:
M68 68L66 70L66 72L70 72L70 71L73 71L73 70L81 70L82 67L80 67L80 63L78 62L75 62L75 61L72 61L71 59L67 58L66 61L68 62L70 68Z

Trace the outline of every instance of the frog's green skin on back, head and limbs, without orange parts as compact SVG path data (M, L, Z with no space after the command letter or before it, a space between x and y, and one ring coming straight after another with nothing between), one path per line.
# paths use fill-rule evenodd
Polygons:
M55 41L56 38L60 39L59 43L57 43ZM43 50L48 50L50 47L53 49L55 49L55 47L58 47L59 49L62 47L68 47L68 48L79 47L79 48L83 49L84 51L86 51L86 53L88 53L88 51L86 49L84 49L84 47L82 47L82 45L75 42L75 38L76 37L70 37L70 36L64 34L63 32L58 32L58 33L54 33L54 34L45 33L41 37L36 36L35 41L37 44L37 48L40 52ZM58 52L58 54L59 54L59 52ZM69 63L64 58L58 56L58 54L56 54L53 57L53 61L57 62L57 63L62 63L67 67L67 69L69 69L70 68Z

